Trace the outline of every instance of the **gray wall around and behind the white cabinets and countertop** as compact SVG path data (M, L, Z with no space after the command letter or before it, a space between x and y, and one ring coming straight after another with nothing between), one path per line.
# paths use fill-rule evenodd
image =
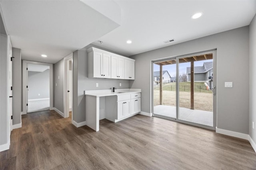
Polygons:
M73 106L74 106L74 121L77 123L86 121L85 120L85 90L104 90L110 89L112 87L117 88L129 88L129 81L131 80L116 80L116 79L107 79L107 78L88 78L88 55L86 49L90 47L96 47L106 51L108 49L100 48L95 45L88 45L82 50L75 51L73 53L73 64L74 64L74 86L73 86ZM114 51L110 51L115 53ZM122 54L120 54L122 55ZM96 88L96 83L99 84L99 87ZM122 86L119 86L119 83L122 83Z

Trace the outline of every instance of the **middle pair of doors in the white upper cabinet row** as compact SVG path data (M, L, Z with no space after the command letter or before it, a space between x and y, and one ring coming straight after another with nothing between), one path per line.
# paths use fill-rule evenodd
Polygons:
M124 57L111 56L111 78L124 79Z

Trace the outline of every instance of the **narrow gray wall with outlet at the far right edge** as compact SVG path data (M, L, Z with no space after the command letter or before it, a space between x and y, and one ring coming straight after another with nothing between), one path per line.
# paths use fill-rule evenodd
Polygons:
M250 23L249 37L249 135L256 143L256 15ZM252 129L252 121L254 121L254 129Z

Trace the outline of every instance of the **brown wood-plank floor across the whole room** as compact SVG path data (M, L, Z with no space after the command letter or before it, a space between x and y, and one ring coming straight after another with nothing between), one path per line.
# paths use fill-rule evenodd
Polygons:
M55 111L22 115L0 169L256 169L256 153L243 139L174 121L136 115L100 131L76 128Z

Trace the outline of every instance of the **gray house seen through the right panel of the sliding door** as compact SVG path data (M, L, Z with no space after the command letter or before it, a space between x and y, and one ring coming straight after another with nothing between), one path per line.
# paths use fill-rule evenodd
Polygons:
M203 66L194 67L194 82L206 82L210 88L212 87L212 61L205 62ZM187 67L187 78L188 82L191 81L191 67Z

